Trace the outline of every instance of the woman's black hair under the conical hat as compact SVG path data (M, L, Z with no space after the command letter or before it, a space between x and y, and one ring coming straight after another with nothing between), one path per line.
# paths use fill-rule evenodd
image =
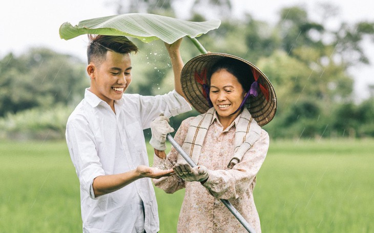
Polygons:
M212 75L220 69L225 69L228 73L234 75L245 92L250 90L251 84L255 81L250 65L234 58L224 57L214 63L209 69L206 76L209 83Z

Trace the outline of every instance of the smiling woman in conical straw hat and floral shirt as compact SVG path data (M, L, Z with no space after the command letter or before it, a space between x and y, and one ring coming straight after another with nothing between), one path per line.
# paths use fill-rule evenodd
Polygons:
M154 166L175 174L155 179L167 193L185 188L178 232L246 232L219 199L229 200L244 219L261 232L253 189L265 159L269 137L261 126L274 118L274 88L253 64L228 54L209 53L182 69L182 89L192 106L203 113L184 120L175 141L197 164L191 168L172 148L165 158L168 119L151 124Z

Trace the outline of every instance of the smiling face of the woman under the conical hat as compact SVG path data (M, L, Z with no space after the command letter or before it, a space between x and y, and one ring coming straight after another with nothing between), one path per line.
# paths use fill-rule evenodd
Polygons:
M239 115L240 111L231 114L239 108L245 94L238 79L226 69L219 69L212 74L209 97L222 125L223 121L232 122Z

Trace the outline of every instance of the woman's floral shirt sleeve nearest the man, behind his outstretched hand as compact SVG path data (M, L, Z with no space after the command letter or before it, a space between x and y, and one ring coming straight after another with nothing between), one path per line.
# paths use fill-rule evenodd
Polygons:
M182 145L184 142L184 138L188 131L189 122L193 118L188 118L184 120L181 124L177 132L175 133L174 140L179 144ZM178 160L178 151L172 147L169 154L167 155L166 159L161 159L154 155L153 159L153 166L162 169L171 169ZM159 179L153 179L153 183L157 188L162 189L166 193L174 193L180 189L185 188L184 180L182 180L176 174L168 177L161 177Z

